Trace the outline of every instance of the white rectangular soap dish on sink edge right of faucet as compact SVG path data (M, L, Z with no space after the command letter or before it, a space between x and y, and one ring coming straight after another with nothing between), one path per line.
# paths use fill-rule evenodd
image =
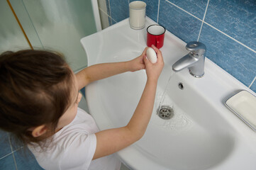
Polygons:
M256 96L248 91L240 91L228 98L226 106L256 131Z

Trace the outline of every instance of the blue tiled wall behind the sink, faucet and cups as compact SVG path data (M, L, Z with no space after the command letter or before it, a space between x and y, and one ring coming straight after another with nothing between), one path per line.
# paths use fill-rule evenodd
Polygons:
M114 24L128 18L134 0L106 1ZM143 1L148 17L185 42L204 42L208 59L256 92L255 0Z

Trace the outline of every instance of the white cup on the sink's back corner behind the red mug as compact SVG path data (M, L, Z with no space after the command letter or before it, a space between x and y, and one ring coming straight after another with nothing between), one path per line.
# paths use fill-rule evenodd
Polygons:
M130 28L139 30L145 27L146 6L143 1L133 1L129 4Z

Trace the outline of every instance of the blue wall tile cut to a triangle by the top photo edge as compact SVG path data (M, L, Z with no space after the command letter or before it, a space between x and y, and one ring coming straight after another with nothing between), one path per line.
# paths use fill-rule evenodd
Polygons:
M203 20L208 0L169 0L173 4Z

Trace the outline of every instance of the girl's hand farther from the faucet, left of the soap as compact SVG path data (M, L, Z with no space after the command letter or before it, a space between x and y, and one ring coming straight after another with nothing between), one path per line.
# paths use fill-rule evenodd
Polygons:
M136 72L140 69L145 69L145 63L143 62L143 57L146 55L147 50L148 50L148 47L145 47L143 53L139 57L133 60L130 60L128 62L130 67L130 72Z

